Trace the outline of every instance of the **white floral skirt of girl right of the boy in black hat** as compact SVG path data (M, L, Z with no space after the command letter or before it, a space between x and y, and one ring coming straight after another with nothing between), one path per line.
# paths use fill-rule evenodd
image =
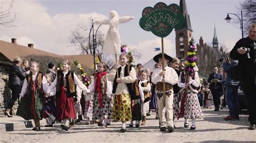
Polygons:
M184 117L185 119L200 119L204 118L203 112L201 110L198 96L195 92L193 92L190 89L185 89L186 91L186 99L185 99L185 105L184 105L184 115L181 117ZM183 90L181 94L184 96Z

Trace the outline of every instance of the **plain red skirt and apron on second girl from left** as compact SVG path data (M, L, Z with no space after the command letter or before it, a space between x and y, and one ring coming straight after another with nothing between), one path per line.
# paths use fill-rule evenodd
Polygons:
M73 97L68 97L64 87L60 97L56 97L56 118L58 121L77 118Z

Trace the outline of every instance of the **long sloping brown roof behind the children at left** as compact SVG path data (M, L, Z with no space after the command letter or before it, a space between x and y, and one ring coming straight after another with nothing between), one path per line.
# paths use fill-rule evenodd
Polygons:
M53 57L58 57L62 59L73 60L77 59L79 63L85 65L86 67L93 68L93 55L83 54L83 55L58 55L50 52L42 51L40 49L26 47L11 42L6 42L0 40L0 53L2 53L9 61L13 61L15 56L26 56L26 55L48 55ZM97 61L99 56L97 56Z

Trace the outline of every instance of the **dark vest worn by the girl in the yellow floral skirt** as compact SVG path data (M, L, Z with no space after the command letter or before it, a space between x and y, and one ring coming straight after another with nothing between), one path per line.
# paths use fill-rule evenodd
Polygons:
M120 77L121 70L122 70L122 67L119 67L119 68L117 69L118 77ZM124 76L129 76L131 70L132 70L132 66L126 65L126 66L124 67ZM116 89L117 89L117 74L116 74L116 76L114 77L114 81L113 81L113 90L112 90L112 93L113 93L113 94L116 93ZM134 94L134 87L133 87L132 84L133 84L133 83L126 83L130 95Z

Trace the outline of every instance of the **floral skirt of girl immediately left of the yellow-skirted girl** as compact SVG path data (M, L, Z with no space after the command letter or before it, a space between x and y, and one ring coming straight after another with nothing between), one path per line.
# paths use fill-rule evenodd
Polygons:
M112 100L107 100L106 96L102 96L102 107L99 105L98 92L94 95L93 98L93 115L92 120L103 120L104 116L107 115L107 119L112 119Z

